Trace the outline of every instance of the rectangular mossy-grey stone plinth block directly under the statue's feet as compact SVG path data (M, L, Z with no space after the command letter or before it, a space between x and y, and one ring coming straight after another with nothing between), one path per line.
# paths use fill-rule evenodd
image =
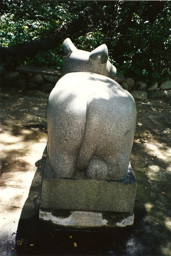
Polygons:
M127 177L119 181L88 180L80 171L70 179L56 178L47 156L42 178L41 208L132 213L136 187L131 165Z

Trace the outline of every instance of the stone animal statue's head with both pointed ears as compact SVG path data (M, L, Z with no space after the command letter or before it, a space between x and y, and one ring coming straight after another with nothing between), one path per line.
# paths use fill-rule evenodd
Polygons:
M78 50L70 38L62 44L62 75L72 72L91 72L115 79L116 68L108 61L108 49L105 44L92 52Z

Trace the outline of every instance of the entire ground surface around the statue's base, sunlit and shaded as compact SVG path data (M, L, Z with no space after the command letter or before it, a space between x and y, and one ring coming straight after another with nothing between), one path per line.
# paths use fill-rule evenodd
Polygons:
M171 255L171 97L136 102L137 125L131 155L137 180L135 219L132 227L112 233L48 232L38 224L48 97L49 93L39 90L27 90L22 95L19 89L1 88L2 221L13 215L16 207L19 210L16 231L10 231L13 238L10 234L1 238L2 255ZM29 186L27 177L31 179ZM11 202L4 191L19 187L18 197ZM22 189L26 187L28 193L23 197ZM16 245L16 240L21 244Z

